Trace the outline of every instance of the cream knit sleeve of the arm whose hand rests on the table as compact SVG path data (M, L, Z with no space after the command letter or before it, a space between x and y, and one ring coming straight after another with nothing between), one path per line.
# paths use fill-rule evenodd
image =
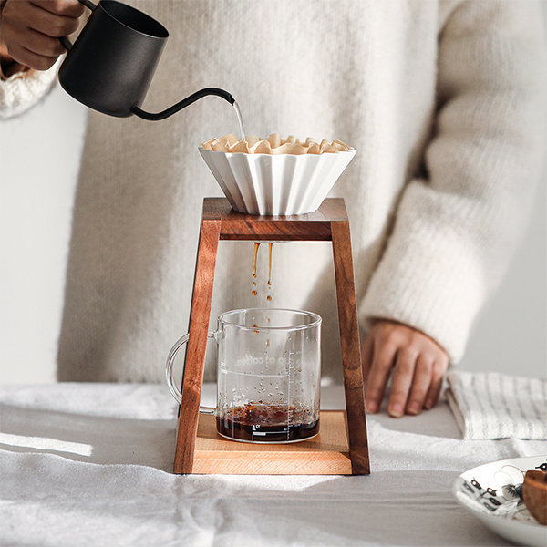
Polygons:
M452 362L501 282L542 170L546 67L535 2L464 2L439 35L438 109L361 318L435 339Z

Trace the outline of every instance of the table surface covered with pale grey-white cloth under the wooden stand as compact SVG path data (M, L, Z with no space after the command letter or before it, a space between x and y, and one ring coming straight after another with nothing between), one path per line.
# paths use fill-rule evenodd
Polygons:
M213 386L204 387L211 403ZM323 408L342 408L340 387ZM506 545L459 507L459 473L547 452L461 440L446 402L368 418L372 473L173 475L176 403L139 384L0 386L0 544Z

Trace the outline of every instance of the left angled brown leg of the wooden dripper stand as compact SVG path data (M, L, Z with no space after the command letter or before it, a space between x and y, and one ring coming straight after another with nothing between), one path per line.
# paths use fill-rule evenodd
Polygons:
M212 286L221 221L201 222L200 244L191 297L190 338L182 383L182 403L175 452L175 473L191 473L200 416L201 386L207 349L207 331L211 316Z

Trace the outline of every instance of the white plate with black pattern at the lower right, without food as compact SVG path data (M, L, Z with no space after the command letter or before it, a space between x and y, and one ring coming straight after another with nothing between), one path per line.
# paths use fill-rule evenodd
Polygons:
M526 509L521 497L527 470L547 471L547 455L501 459L461 473L452 493L490 530L519 545L547 545L547 526Z

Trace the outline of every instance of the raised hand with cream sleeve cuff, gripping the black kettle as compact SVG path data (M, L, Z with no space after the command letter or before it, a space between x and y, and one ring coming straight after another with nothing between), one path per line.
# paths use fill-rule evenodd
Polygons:
M0 8L0 119L7 119L53 87L54 65L65 53L58 37L77 29L84 7L77 0L3 0Z

